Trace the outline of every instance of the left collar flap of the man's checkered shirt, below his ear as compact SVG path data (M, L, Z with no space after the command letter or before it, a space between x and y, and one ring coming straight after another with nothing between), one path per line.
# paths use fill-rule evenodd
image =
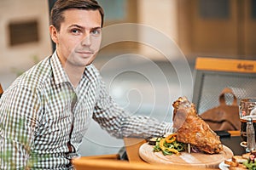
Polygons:
M50 65L52 67L53 76L56 84L60 84L62 82L70 82L67 73L64 71L61 61L55 51L50 58Z

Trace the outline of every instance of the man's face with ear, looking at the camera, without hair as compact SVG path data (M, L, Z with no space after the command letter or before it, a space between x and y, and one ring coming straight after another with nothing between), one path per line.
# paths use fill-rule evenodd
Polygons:
M102 41L102 18L98 10L67 9L60 31L50 28L61 64L84 67L95 59ZM53 34L54 33L54 34Z

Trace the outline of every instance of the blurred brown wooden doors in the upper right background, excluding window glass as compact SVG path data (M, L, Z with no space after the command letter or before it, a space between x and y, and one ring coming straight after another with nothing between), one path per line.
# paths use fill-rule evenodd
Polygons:
M200 1L178 0L178 42L184 54L253 59L256 55L255 1L229 0L229 16L223 19L221 15L215 19L202 17Z

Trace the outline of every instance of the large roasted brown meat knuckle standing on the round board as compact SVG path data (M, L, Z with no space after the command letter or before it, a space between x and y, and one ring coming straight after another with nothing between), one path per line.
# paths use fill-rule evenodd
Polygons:
M185 97L180 97L172 105L173 127L177 129L177 141L191 144L209 154L223 150L219 136L197 115L193 103Z

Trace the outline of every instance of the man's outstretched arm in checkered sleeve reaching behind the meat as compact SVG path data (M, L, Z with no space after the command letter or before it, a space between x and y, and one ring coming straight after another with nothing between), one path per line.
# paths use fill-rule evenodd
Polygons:
M159 122L148 116L130 116L109 96L101 82L99 99L93 118L101 127L117 138L127 136L147 138L172 132L172 123Z

